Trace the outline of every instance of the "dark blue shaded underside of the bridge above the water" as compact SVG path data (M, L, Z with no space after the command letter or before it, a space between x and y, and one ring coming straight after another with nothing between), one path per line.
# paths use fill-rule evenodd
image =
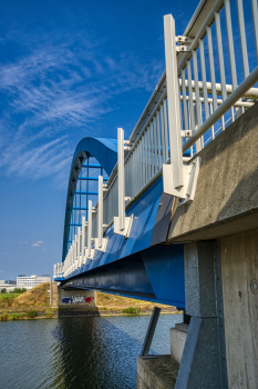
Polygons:
M61 286L185 308L184 247L157 245L82 272Z

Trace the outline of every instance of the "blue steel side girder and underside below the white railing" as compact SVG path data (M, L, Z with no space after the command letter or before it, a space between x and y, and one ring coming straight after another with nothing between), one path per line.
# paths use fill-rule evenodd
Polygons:
M114 233L111 226L105 252L95 250L63 287L96 289L133 298L184 308L183 245L159 245L166 240L174 198L163 193L157 179L126 210L134 215L127 239ZM164 211L165 210L165 211Z

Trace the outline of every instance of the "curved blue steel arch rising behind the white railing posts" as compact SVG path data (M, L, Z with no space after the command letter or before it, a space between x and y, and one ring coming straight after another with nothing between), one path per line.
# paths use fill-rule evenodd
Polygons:
M114 166L117 161L117 140L116 139L104 139L104 138L83 138L73 154L68 196L66 196L66 207L64 217L64 231L63 231L63 252L62 260L65 259L68 252L68 242L71 226L71 211L73 207L73 199L76 192L76 182L80 178L81 169L84 168L84 162L89 157L94 157L100 164L91 163L91 168L103 168L105 172L110 176ZM72 223L73 226L76 223Z

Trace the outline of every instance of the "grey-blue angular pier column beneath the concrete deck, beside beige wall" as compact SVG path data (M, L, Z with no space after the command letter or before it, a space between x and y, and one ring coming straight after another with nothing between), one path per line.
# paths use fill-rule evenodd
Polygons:
M185 291L192 319L175 389L227 388L218 242L185 246Z

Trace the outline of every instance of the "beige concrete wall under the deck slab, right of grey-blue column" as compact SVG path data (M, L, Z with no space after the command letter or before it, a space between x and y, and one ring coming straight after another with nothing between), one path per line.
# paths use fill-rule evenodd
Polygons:
M229 389L258 388L258 229L220 239Z

